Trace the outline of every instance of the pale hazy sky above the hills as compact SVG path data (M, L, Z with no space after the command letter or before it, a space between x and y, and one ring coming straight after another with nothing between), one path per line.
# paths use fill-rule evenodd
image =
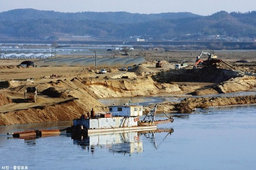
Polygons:
M127 11L131 13L192 12L211 15L220 10L256 10L256 0L0 0L0 12L34 8L59 12Z

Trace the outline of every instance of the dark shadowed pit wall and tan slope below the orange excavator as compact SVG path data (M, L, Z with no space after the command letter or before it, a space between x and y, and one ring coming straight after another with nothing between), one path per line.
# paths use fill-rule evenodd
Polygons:
M189 93L207 95L217 93L233 93L247 91L256 87L256 76L245 76L237 71L221 68L179 69L160 72L153 76L158 82L201 82L212 83Z

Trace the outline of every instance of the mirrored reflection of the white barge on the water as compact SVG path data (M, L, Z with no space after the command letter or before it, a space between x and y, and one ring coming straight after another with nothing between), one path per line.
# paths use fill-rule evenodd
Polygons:
M82 149L91 153L94 153L97 147L104 147L112 153L131 155L132 153L143 152L143 137L150 140L155 149L158 149L155 133L166 133L166 138L173 133L173 129L157 129L154 131L109 133L89 136L72 135L71 138L73 139L73 144L77 144Z

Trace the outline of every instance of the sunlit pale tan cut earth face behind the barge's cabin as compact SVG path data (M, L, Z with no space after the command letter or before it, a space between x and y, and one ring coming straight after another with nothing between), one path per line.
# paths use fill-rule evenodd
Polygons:
M134 79L87 80L77 79L88 87L88 91L97 98L143 96L157 93L181 91L178 85L160 84L150 76Z

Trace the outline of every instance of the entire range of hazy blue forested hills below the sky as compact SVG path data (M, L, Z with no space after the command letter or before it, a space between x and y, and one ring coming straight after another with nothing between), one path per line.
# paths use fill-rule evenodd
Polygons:
M92 37L143 36L144 38L187 38L222 35L256 36L256 11L217 12L211 16L192 13L131 14L128 12L61 13L35 9L15 9L0 13L0 37Z

